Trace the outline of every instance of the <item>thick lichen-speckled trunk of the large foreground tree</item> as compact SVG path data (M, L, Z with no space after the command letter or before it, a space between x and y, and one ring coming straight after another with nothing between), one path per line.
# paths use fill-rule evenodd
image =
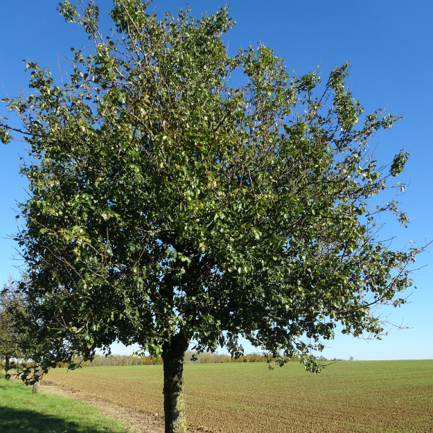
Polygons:
M186 433L183 373L188 344L188 338L179 333L162 347L165 433Z

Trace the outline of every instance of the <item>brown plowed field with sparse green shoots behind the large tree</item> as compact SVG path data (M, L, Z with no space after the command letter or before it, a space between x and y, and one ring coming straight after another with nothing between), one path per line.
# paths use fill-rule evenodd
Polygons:
M290 362L184 369L189 429L209 432L433 432L433 360ZM46 380L163 418L162 366L55 369Z

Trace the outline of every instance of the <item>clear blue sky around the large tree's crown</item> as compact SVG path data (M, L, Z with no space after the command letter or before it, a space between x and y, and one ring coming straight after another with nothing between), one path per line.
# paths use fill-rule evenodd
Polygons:
M109 0L97 3L102 12L112 5ZM58 58L69 55L69 48L89 46L82 27L66 24L58 15L57 4L57 0L0 1L0 82L11 95L12 87L24 90L28 83L21 60L49 64L56 71ZM189 4L198 17L225 3L190 0ZM395 249L403 248L408 240L419 246L425 238L433 240L433 1L232 0L228 4L238 23L227 36L229 53L261 41L285 57L288 70L294 69L298 75L321 63L323 78L333 67L350 60L348 82L365 111L387 107L392 114L403 114L403 121L376 136L371 145L378 145L377 156L382 162L401 148L410 152L400 179L410 182L410 187L400 203L414 219L408 229L387 224L383 237L395 235ZM175 14L185 5L186 1L156 0L150 7L158 14L166 10ZM1 88L0 94L4 96ZM0 116L13 118L3 103ZM13 120L14 124L18 125L17 121ZM8 236L17 231L15 200L26 197L26 179L18 173L20 154L25 155L21 143L0 147L0 282L6 281L8 274L17 276L17 262L12 260L15 242ZM426 266L414 275L417 290L412 303L382 311L389 321L407 324L409 330L390 329L382 342L337 335L324 355L359 360L433 358L432 253L418 256L418 265ZM245 348L253 350L248 345ZM120 346L114 351L129 352Z

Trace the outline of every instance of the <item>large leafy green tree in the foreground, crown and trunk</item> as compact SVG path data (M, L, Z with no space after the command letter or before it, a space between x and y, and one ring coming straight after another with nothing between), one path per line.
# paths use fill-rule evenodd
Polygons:
M164 360L166 432L184 432L191 342L238 356L242 335L277 364L299 355L317 373L311 350L337 323L380 338L372 308L405 303L421 250L377 237L383 213L408 222L396 202L405 185L389 185L408 154L389 173L376 166L369 139L398 118L379 109L360 121L348 64L326 82L289 76L263 44L227 54L227 8L159 21L148 4L115 0L104 38L93 2L62 2L94 53L74 51L62 85L28 62L36 93L6 98L22 127L3 119L0 130L5 143L15 132L28 142L17 240L29 329L52 339L42 362L73 368L116 339L138 343Z

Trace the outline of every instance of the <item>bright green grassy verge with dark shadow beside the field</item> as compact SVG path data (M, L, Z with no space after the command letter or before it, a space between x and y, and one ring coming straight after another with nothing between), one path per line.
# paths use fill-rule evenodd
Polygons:
M0 432L2 433L127 433L116 420L94 407L51 394L32 394L32 388L0 375Z

